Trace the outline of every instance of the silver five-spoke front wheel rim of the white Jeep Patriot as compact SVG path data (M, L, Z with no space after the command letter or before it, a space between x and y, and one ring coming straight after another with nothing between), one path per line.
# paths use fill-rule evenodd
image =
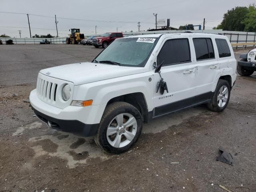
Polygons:
M137 121L134 116L122 113L116 116L107 129L107 140L115 148L128 145L135 137L137 132Z

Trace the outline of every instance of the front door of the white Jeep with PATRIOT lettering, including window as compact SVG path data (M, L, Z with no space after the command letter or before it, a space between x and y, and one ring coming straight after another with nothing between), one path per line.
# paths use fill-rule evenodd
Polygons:
M196 67L191 58L189 38L166 39L157 56L162 63L161 76L168 87L164 94L157 91L160 74L154 73L154 116L190 106L195 100Z

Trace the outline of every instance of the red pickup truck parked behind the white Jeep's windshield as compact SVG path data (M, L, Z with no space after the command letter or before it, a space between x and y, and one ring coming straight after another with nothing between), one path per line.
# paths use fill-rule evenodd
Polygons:
M106 48L108 44L110 44L112 41L114 41L117 38L124 37L123 33L120 32L114 32L114 33L104 33L100 37L93 38L92 44L94 47L98 48L102 46L103 48Z

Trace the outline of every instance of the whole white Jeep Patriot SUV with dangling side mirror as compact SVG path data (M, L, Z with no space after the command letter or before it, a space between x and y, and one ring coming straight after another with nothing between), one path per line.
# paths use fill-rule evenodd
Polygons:
M116 39L92 62L41 70L30 102L49 127L128 150L143 122L207 104L228 105L236 59L226 36L177 33Z

